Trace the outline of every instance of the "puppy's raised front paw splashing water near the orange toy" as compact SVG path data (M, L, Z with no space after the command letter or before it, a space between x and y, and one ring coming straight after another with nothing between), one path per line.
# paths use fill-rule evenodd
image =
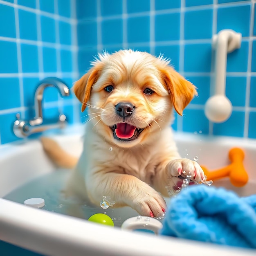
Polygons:
M197 162L186 158L170 161L166 166L166 171L168 177L170 177L170 181L173 183L173 189L179 189L181 187L182 179L186 177L186 175L183 174L184 171L191 173L191 181L193 182L205 180L204 171L201 166Z

